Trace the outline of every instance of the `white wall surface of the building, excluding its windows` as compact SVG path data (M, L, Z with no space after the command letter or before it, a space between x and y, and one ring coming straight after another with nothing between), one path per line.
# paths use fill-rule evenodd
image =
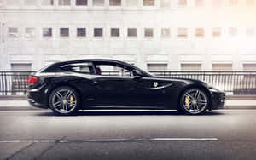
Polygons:
M81 58L113 58L134 63L144 69L147 63L167 63L168 70L181 69L181 63L201 63L202 70L211 70L212 63L232 63L233 70L242 70L243 63L256 63L256 7L247 7L240 0L237 7L229 7L224 0L223 7L212 8L211 1L206 6L195 8L194 0L188 0L188 7L180 8L177 0L172 0L170 9L160 9L160 1L155 7L143 7L139 0L137 8L72 6L43 7L6 6L2 0L0 22L5 24L4 39L0 43L0 69L9 70L11 63L32 63L32 69L56 60ZM256 2L255 2L256 5ZM77 38L76 28L86 27L87 37ZM18 27L20 37L10 39L8 27ZM25 28L35 27L36 37L25 38ZM43 27L53 27L53 37L42 37ZM69 27L70 37L60 37L59 29ZM104 37L93 37L94 27L104 28ZM110 37L110 28L119 27L120 37ZM127 37L127 28L136 27L137 37ZM154 28L154 37L145 38L144 28ZM171 37L162 38L161 28L170 27ZM189 37L177 37L178 27L188 27ZM195 28L205 28L205 37L196 38ZM212 37L212 27L221 27L222 36ZM238 35L229 37L228 28L237 27ZM247 27L254 27L255 35L246 37ZM2 28L2 26L1 26ZM1 34L1 38L3 34ZM1 51L2 50L2 51Z

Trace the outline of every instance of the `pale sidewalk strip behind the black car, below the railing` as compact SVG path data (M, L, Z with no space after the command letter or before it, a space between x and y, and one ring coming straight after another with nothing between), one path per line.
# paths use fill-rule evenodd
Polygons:
M256 109L256 96L228 96L226 109ZM0 109L38 110L26 101L24 96L0 96Z

